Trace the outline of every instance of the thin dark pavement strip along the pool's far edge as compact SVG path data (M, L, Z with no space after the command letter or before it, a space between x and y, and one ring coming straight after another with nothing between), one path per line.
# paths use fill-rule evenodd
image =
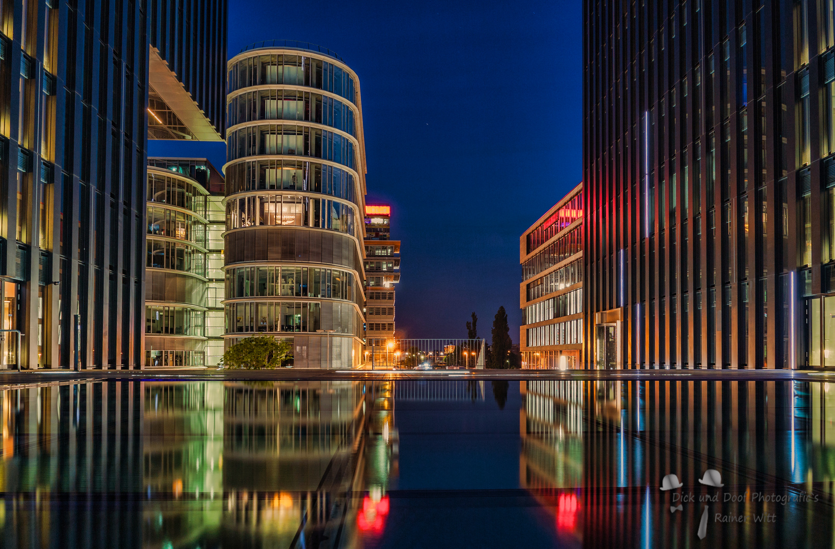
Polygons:
M832 381L835 370L23 370L0 372L0 388L83 380L727 380Z

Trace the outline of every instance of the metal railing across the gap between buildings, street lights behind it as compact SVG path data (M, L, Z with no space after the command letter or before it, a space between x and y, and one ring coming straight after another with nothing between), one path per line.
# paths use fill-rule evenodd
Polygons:
M431 369L483 369L487 358L484 340L397 340L369 338L365 363L372 369L417 367Z

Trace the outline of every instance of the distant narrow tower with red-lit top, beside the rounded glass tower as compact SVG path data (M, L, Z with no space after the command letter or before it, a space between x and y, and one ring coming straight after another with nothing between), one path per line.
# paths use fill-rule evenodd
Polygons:
M379 349L394 337L394 285L400 282L400 240L392 240L391 219L388 204L366 206L366 344Z

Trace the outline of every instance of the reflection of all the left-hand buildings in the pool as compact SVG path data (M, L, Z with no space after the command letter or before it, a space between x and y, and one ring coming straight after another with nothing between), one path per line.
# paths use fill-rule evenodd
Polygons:
M397 474L392 383L0 391L0 545L358 546Z

